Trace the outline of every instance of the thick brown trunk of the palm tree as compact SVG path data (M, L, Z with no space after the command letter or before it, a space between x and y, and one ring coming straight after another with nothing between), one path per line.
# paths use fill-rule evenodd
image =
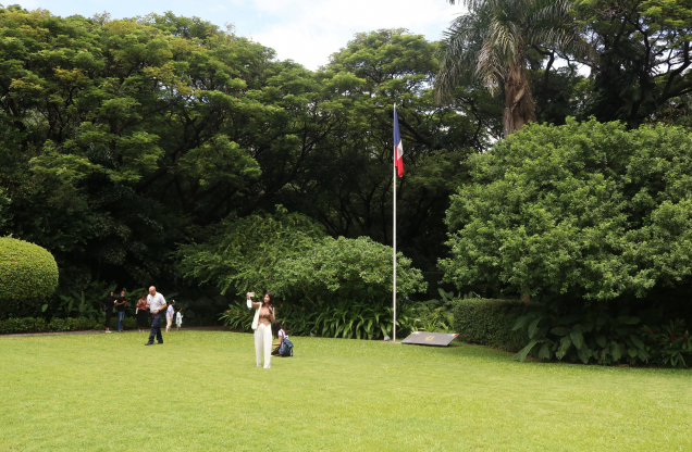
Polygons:
M515 63L505 77L505 137L521 129L529 121L535 121L535 104L527 73L521 63Z

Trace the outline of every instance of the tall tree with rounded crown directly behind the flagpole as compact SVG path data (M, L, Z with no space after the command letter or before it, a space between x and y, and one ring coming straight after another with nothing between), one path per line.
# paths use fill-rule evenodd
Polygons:
M318 146L314 164L280 201L328 234L392 243L392 115L397 102L406 173L397 188L398 246L432 268L444 252L448 197L465 179L460 163L502 135L502 104L484 90L455 91L444 105L431 84L438 45L405 30L358 34L324 74L350 74L343 122Z

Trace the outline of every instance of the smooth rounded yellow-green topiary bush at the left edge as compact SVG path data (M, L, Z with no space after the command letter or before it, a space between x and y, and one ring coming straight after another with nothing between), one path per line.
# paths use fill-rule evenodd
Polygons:
M49 297L58 287L58 264L46 249L0 237L0 300Z

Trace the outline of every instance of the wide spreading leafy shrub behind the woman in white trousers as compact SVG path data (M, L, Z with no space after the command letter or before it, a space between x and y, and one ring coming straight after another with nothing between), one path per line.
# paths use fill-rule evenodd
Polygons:
M184 277L213 284L221 293L269 289L313 309L341 300L387 300L392 290L391 247L367 237L324 237L310 218L281 205L273 215L226 222L207 243L183 244L175 255ZM401 294L427 288L403 254L397 255L397 288Z

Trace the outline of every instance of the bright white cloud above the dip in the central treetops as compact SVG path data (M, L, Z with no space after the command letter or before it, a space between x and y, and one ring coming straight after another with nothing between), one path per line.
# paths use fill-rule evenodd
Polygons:
M329 55L356 33L407 28L435 40L462 11L445 0L251 1L254 9L279 20L255 25L257 29L247 34L276 50L280 60L291 59L311 70L326 64Z

